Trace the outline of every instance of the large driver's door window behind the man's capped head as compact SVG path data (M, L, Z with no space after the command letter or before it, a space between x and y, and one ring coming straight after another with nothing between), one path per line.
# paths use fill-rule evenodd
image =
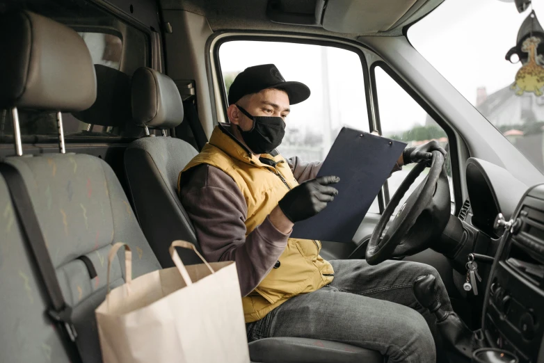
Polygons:
M301 81L312 94L291 106L278 151L289 158L322 161L342 127L369 131L362 59L354 51L289 42L231 41L219 49L228 92L239 72L273 63L287 81ZM369 209L379 213L378 202Z

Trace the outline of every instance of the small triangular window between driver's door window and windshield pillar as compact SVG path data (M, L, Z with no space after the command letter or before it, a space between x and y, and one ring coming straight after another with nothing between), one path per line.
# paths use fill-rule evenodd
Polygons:
M380 117L381 134L387 138L400 140L407 143L407 147L422 145L430 140L437 140L446 151L449 151L446 132L440 127L415 100L403 90L397 81L391 78L381 67L374 68L376 90L378 98L378 112ZM403 166L402 170L394 172L387 180L388 193L394 195L397 188L415 164ZM449 191L451 195L451 212L455 210L454 188L451 180L451 162L449 154L446 159L446 170L449 179ZM429 169L424 170L415 180L397 206L397 210L410 196L413 190L422 182ZM388 202L388 200L387 200ZM396 212L395 212L396 213Z

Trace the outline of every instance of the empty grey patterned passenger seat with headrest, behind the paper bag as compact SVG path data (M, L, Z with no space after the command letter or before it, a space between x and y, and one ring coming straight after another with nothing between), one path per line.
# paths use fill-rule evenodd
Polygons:
M72 112L95 102L89 51L67 26L28 11L1 15L0 49L0 108L15 115L17 108ZM160 268L127 196L109 165L94 156L23 155L4 162L19 171L29 191L83 362L102 362L95 308L106 296L112 243L131 246L134 277ZM69 362L2 177L0 236L0 362ZM111 287L124 282L119 259L111 273Z

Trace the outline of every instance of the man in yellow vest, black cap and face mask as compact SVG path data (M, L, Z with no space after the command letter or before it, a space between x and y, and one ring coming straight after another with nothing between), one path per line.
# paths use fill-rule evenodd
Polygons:
M334 199L339 181L315 179L321 163L285 160L275 151L289 104L307 97L307 86L286 82L274 65L248 67L234 79L230 126L216 127L179 175L179 197L202 252L209 261L236 261L249 341L325 339L379 350L389 362L435 362L435 321L412 292L415 278L426 274L445 291L434 268L329 262L319 256L319 241L289 239L295 222ZM445 154L435 142L409 148L396 169L429 159L432 150ZM440 299L451 309L445 292Z

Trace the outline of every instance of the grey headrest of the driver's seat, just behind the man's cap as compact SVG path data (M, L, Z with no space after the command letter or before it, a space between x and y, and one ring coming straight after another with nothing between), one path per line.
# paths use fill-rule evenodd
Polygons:
M183 102L169 76L141 67L132 76L132 118L139 126L170 129L182 123Z

